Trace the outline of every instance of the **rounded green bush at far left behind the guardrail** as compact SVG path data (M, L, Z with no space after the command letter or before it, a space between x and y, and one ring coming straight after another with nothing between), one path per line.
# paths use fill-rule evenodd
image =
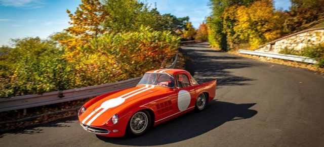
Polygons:
M73 87L72 67L57 43L26 37L0 60L0 97L44 93Z

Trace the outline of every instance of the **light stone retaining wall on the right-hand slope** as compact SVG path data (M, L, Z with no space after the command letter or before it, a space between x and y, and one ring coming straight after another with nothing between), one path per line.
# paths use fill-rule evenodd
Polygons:
M303 47L315 45L324 42L324 27L308 29L289 36L271 41L259 46L255 51L279 53L284 48L294 48L297 51L302 50Z

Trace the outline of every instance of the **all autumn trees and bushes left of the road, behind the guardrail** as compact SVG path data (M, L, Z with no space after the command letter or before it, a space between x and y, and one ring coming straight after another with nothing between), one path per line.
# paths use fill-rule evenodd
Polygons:
M195 30L189 17L160 14L137 0L82 0L66 12L71 27L62 32L0 48L1 98L135 78L167 67L181 40L207 39L204 23Z

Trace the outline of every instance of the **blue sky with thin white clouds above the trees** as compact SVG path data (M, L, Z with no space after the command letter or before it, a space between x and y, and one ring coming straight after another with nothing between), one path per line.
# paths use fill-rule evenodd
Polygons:
M189 16L197 29L210 15L209 0L146 0L160 14ZM47 38L70 27L66 10L75 12L80 0L0 0L0 46L11 45L10 39ZM288 10L289 0L275 0L275 8Z

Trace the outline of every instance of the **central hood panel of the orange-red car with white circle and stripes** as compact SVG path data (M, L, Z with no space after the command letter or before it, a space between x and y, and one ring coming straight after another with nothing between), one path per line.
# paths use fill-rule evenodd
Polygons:
M139 99L145 99L145 97L149 97L158 90L159 89L154 88L154 86L134 87L126 89L109 95L95 103L94 111L97 113L107 113L110 110L117 108L118 106L127 105L130 102L136 102Z

